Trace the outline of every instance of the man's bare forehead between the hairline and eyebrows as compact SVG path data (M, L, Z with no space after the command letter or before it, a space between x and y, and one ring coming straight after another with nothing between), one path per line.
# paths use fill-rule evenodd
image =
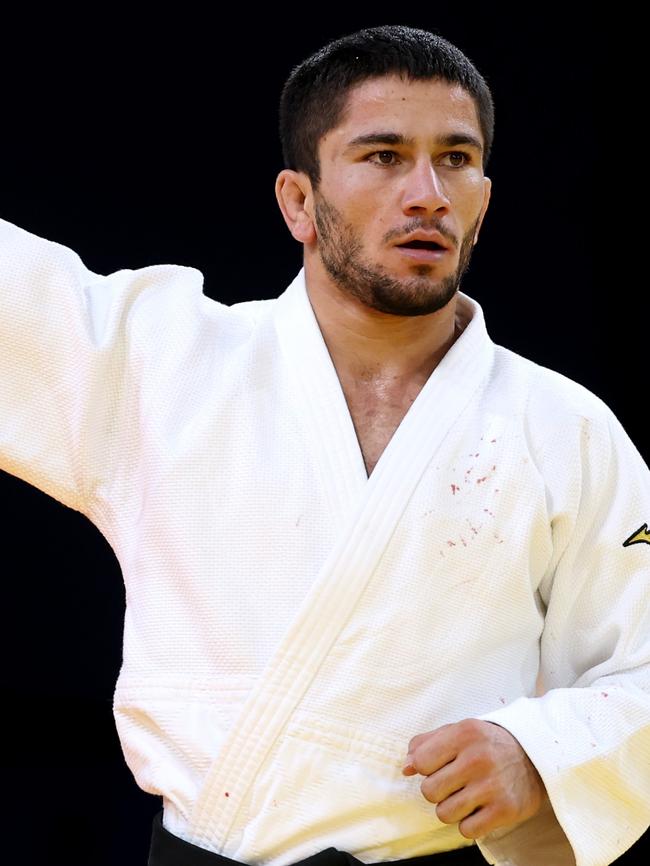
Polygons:
M377 129L392 129L424 143L463 132L483 140L474 99L459 84L390 75L351 88L338 126L321 139L321 152L336 158L352 138Z

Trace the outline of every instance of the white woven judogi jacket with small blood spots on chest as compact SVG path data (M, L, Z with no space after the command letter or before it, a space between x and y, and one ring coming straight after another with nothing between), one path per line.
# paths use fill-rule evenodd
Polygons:
M479 840L488 862L605 866L648 827L650 471L458 304L368 478L302 270L226 307L193 268L100 276L0 221L0 466L115 551L115 720L176 835L269 866L468 844L401 767L469 717L553 807Z

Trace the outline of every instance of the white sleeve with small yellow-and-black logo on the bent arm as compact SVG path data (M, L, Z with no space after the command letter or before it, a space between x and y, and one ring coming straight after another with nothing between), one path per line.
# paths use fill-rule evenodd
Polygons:
M565 499L540 587L546 691L478 716L510 731L536 766L577 866L612 863L650 825L650 470L599 405L596 417L575 416L573 435L561 431L550 458ZM547 818L477 841L489 862L537 864Z

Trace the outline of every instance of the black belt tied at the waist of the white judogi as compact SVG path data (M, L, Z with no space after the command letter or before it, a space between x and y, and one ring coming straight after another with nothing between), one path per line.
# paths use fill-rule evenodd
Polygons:
M174 836L163 827L162 809L153 819L151 848L147 866L246 866L238 860L231 860L223 854L214 854ZM292 866L366 866L345 851L325 848ZM384 864L382 864L384 866ZM443 854L426 854L424 857L411 857L406 860L391 860L390 866L485 866L485 858L476 845L468 845Z

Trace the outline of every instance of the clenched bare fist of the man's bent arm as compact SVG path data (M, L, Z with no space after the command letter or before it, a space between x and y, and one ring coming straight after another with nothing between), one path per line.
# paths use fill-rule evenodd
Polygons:
M548 796L542 777L512 734L464 719L409 742L402 773L426 776L420 789L444 824L478 839L535 815ZM410 765L410 766L409 766Z

